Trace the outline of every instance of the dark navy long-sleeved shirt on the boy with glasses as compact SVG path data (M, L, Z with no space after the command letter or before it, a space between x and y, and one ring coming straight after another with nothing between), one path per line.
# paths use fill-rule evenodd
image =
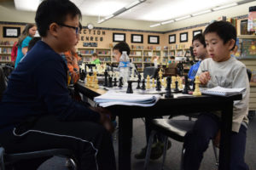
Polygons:
M70 98L67 65L39 41L9 77L0 103L0 132L30 117L58 116L62 121L98 122L100 115Z

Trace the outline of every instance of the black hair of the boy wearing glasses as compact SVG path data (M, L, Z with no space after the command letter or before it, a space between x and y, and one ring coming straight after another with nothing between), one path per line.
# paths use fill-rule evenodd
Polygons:
M44 0L40 3L35 18L40 36L47 36L51 23L64 24L68 14L72 18L82 16L79 8L69 0Z

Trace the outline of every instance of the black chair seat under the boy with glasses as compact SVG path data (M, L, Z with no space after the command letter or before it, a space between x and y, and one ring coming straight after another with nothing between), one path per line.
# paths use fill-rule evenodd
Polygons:
M73 158L73 150L67 149L52 149L52 150L38 150L31 152L22 152L15 154L7 154L4 152L4 148L0 147L0 169L5 170L6 166L11 167L15 163L22 160L31 160L39 157L50 157L50 156L64 156L67 158ZM73 159L72 159L73 160ZM73 161L73 169L76 169L76 163Z

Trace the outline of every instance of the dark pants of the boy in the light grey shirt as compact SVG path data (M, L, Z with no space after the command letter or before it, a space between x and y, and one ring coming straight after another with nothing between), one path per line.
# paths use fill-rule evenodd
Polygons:
M220 122L218 117L212 114L202 114L195 122L193 130L185 135L184 141L184 169L198 170L207 150L210 139L218 133ZM246 149L247 128L241 125L239 133L231 134L231 170L248 170L244 161Z

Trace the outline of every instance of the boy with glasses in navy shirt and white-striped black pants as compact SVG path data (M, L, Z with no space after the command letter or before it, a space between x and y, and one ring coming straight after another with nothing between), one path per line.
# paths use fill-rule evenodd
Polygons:
M7 153L73 150L78 169L114 170L106 111L73 101L61 53L73 48L81 12L69 0L44 0L36 13L42 37L9 77L0 104L0 144ZM45 161L20 161L15 169L37 169Z

